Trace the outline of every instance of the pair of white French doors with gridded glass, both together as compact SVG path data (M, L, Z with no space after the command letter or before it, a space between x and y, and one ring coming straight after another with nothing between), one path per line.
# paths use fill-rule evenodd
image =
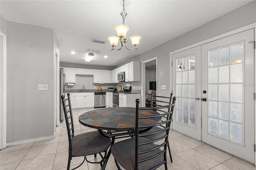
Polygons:
M254 28L172 53L172 127L255 164Z

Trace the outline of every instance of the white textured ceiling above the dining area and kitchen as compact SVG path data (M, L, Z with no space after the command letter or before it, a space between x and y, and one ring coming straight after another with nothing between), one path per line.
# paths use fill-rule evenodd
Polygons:
M126 0L125 24L130 28L127 37L142 36L139 51L110 51L108 36L117 36L114 27L122 24L122 0L1 0L0 14L7 21L53 29L60 45L61 62L117 66L249 2ZM94 43L92 39L106 43ZM127 46L132 48L130 42ZM99 50L90 62L84 61L88 48Z

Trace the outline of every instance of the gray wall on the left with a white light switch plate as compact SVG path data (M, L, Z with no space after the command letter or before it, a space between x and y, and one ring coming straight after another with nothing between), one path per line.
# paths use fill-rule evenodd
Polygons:
M52 29L7 22L7 142L54 135L53 56Z

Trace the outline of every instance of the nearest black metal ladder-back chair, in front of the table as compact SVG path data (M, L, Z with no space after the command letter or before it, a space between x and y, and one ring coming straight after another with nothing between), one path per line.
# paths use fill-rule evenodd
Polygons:
M175 101L176 97L173 97L172 104L170 105L139 108L140 100L136 99L135 138L116 142L111 147L111 152L114 156L118 170L121 170L119 164L126 170L154 170L164 164L165 170L167 170L166 149ZM166 108L168 112L159 113L159 115L155 116L144 115L139 117L140 109L158 110L164 108ZM156 121L152 125L143 124L143 121L149 121L149 119L151 121L152 119L155 119ZM158 131L148 131L139 134L139 129L154 128L158 126L162 127ZM156 134L161 135L154 140L150 140L145 137ZM164 139L164 141L162 139ZM159 145L156 145L154 142L158 142Z

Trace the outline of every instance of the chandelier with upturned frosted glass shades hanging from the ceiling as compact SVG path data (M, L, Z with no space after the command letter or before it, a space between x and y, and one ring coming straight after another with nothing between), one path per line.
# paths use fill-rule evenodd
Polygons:
M118 37L117 36L108 37L108 40L110 41L110 44L113 47L111 49L111 51L113 49L115 49L118 42L121 43L121 47L119 49L115 49L117 51L120 50L124 46L126 47L126 42L128 42L128 39L126 38L126 33L129 31L129 27L124 25L124 19L127 15L127 13L125 12L125 9L124 9L124 1L125 0L123 0L123 11L120 13L122 18L123 18L123 25L118 25L118 26L115 27L115 30L117 32ZM140 43L141 36L130 36L129 38L132 42L132 45L134 46L134 48L132 48L132 49L137 49L137 46ZM129 48L126 47L126 49L129 49ZM132 50L132 49L129 49L129 50Z

